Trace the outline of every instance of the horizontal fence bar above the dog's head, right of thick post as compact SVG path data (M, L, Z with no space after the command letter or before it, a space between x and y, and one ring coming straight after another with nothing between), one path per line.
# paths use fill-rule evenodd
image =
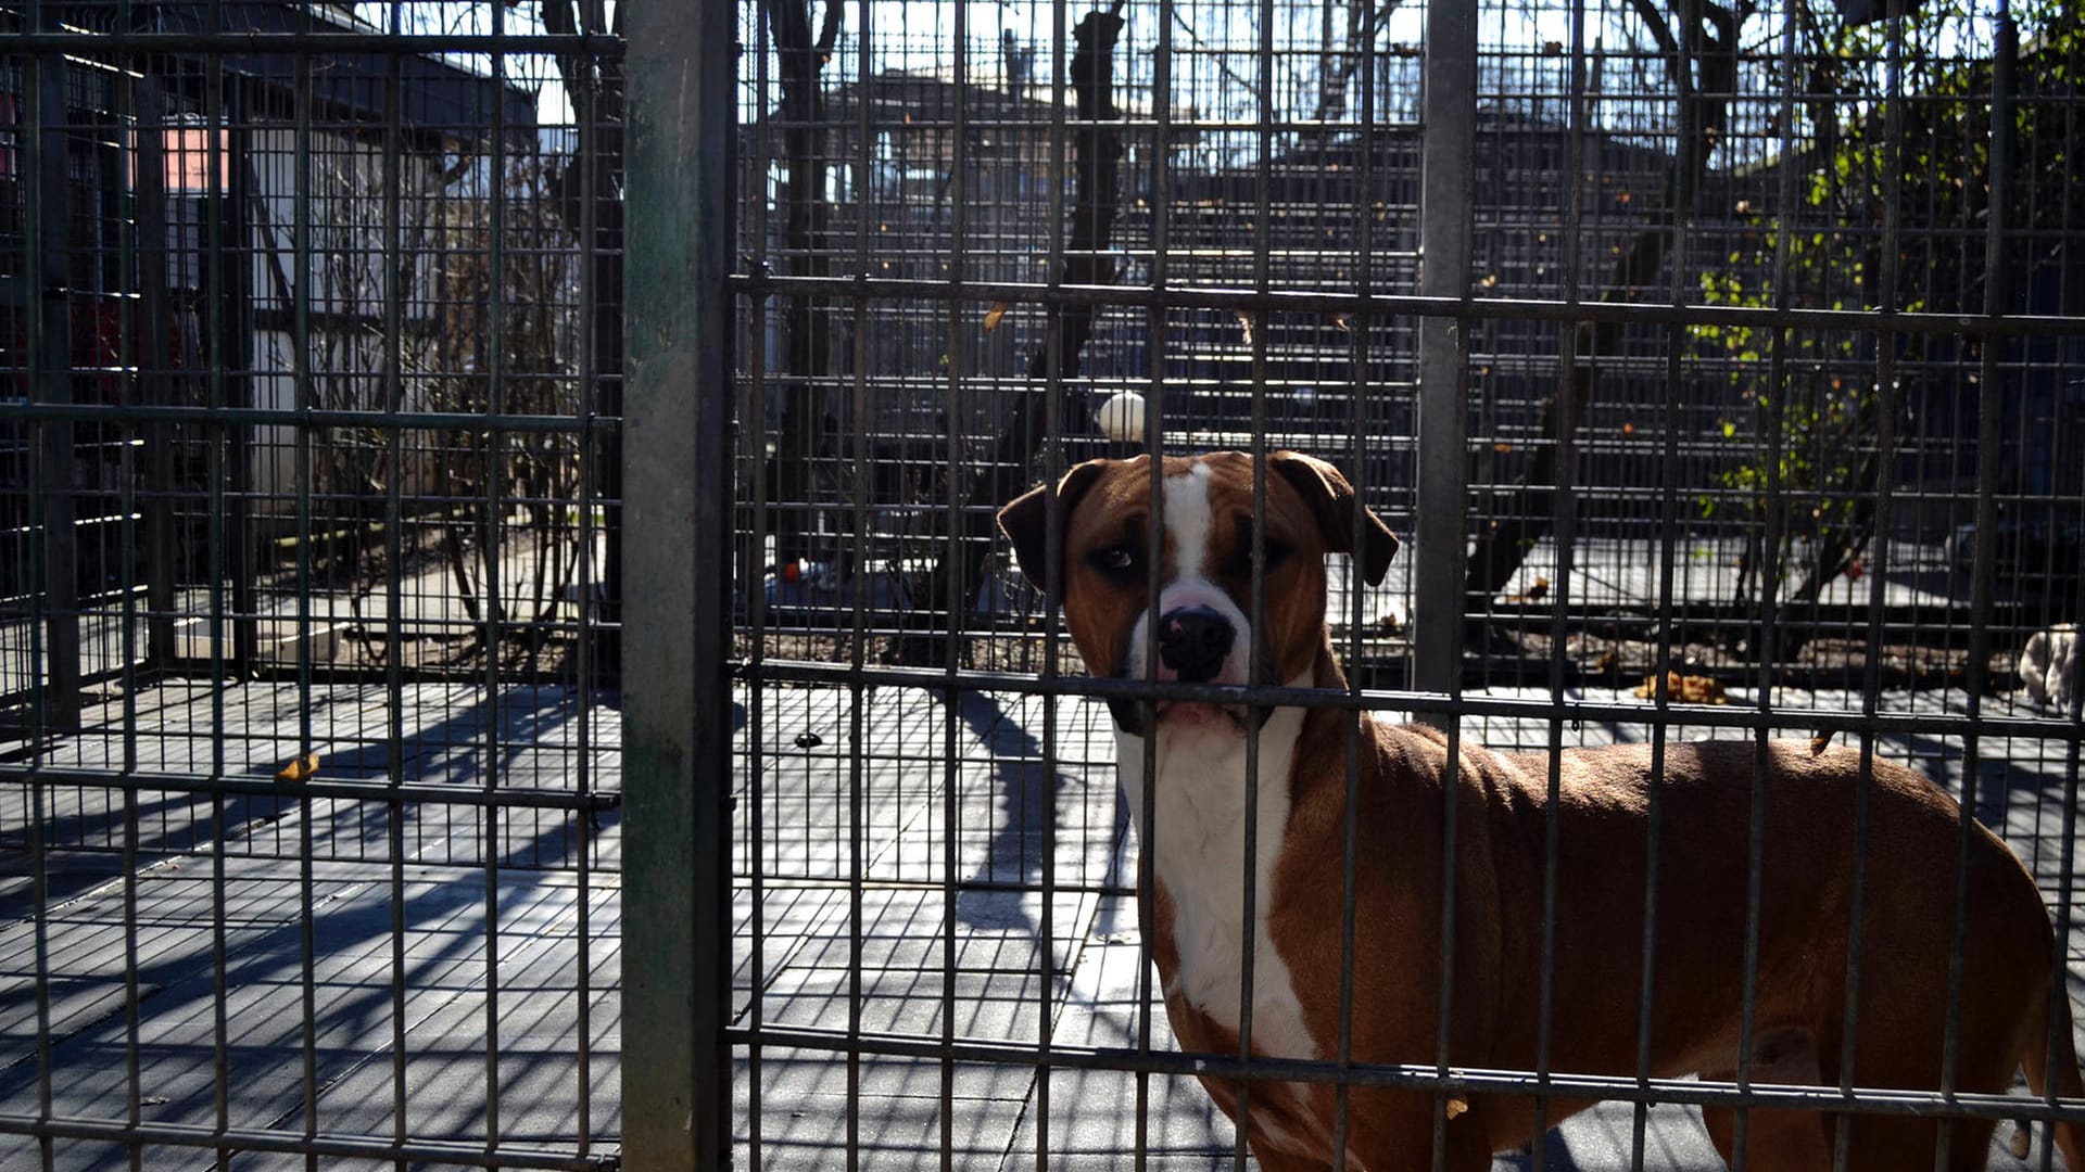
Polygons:
M1981 317L1970 313L1872 313L1858 309L1751 309L1733 304L1655 304L1603 300L1518 300L1351 294L1316 290L1241 290L1211 286L1040 286L928 282L907 277L792 277L740 273L742 296L809 294L830 298L913 298L1026 304L1130 304L1143 309L1261 309L1268 313L1347 313L1362 317L1455 317L1470 321L1616 321L1622 325L1801 327L1862 334L2085 336L2085 317Z

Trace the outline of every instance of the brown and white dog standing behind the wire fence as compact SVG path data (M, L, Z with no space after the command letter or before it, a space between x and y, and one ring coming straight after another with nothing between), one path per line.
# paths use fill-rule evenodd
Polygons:
M1049 548L1047 503L1061 511ZM1274 453L1266 475L1264 615L1249 615L1253 461L1241 453L1168 459L1163 505L1151 515L1151 469L1093 461L1007 505L1001 526L1032 582L1055 557L1065 624L1095 676L1345 688L1324 628L1326 553L1349 553L1380 582L1397 538L1328 463ZM1355 515L1359 511L1359 517ZM1362 534L1353 548L1353 534ZM1149 557L1159 557L1149 599ZM1147 676L1147 624L1159 624ZM1253 649L1257 646L1257 659ZM1426 728L1391 728L1362 713L1357 807L1347 809L1347 744L1355 717L1336 709L1157 703L1113 705L1118 767L1143 849L1153 855L1153 922L1145 926L1166 1011L1191 1051L1236 1053L1241 970L1253 957L1251 1051L1330 1059L1339 1036L1341 899L1347 817L1357 822L1353 1059L1432 1064L1441 991L1443 813L1457 803L1453 1003L1449 1061L1532 1070L1539 1039L1543 863L1549 757L1489 753ZM1245 809L1245 724L1257 732L1257 809ZM1145 736L1157 776L1143 809ZM1651 1074L1731 1080L1739 1064L1745 903L1758 747L1672 744L1651 774L1647 747L1562 755L1557 799L1555 984L1551 1070L1637 1072L1645 947L1647 803L1660 790L1658 943ZM1862 986L1854 1082L1941 1086L1947 963L1954 932L1958 805L1927 778L1876 759L1864 874L1854 822L1860 757L1770 744L1766 851L1758 922L1753 1082L1837 1086L1847 1032L1847 949L1862 884ZM1245 826L1257 820L1255 907L1245 922ZM1968 843L1968 924L1960 982L1960 1091L2006 1093L2027 1068L2039 1095L2054 932L2033 878L1977 826ZM2079 1097L2068 1007L2056 1022L2058 1086ZM1238 1084L1205 1078L1236 1120ZM1347 1168L1424 1168L1430 1093L1351 1091ZM1489 1168L1493 1151L1532 1139L1535 1101L1470 1095L1447 1122L1447 1166ZM1585 1101L1551 1103L1560 1120ZM1332 1164L1330 1084L1255 1082L1247 1137L1261 1168ZM1735 1116L1703 1112L1731 1159ZM1851 1168L1933 1168L1939 1124L1910 1116L1751 1112L1747 1166L1831 1168L1835 1128L1849 1126ZM1949 1168L1983 1168L1993 1124L1958 1120ZM2079 1134L2058 1128L2070 1168L2085 1172Z

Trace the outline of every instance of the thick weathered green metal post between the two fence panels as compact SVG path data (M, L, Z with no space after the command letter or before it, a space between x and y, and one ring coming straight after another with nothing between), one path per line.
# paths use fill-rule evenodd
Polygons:
M628 15L623 1159L730 1166L736 8Z

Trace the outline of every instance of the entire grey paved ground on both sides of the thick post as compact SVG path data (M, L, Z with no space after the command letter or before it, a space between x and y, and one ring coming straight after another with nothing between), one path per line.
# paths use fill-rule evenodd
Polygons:
M1806 699L1845 701L1779 703ZM582 713L567 690L515 688L488 703L482 688L430 684L402 701L396 765L407 780L571 790L584 763L596 784L615 784L615 713ZM869 1034L1022 1045L1047 1030L1074 1047L1130 1047L1149 1028L1153 1047L1172 1047L1163 1014L1149 1014L1138 995L1134 905L1101 890L1122 882L1130 855L1099 709L1063 701L1047 726L1042 701L1020 697L976 694L953 713L892 688L776 686L740 701L740 1026L844 1036L853 1020ZM1893 711L1933 705L1885 697ZM382 690L340 688L304 703L267 684L165 686L133 701L133 738L121 736L119 699L92 715L102 732L56 747L52 763L129 755L144 770L206 772L221 753L225 776L267 778L304 749L309 726L321 776L384 780L392 770ZM217 728L225 736L213 736ZM1468 730L1493 744L1547 736L1541 722ZM1641 734L1566 728L1572 740ZM1045 770L1045 749L1055 770ZM2060 747L1985 749L1995 759L1981 811L2054 893ZM1949 780L1960 772L1960 744L1945 738L1887 751ZM136 1097L156 1122L213 1126L221 1095L231 1126L296 1130L315 1109L325 1132L384 1137L402 1101L415 1137L484 1139L496 1128L507 1143L573 1149L586 1134L594 1151L613 1151L623 1028L613 815L594 828L555 811L507 811L488 826L469 805L404 805L394 820L384 803L315 801L306 811L236 797L221 815L236 847L219 859L208 851L208 799L146 790L136 807L144 853L125 882L121 801L50 784L40 797L50 901L38 926L31 801L21 786L0 790L0 1116L33 1114L48 1084L60 1116L121 1120L136 1036ZM309 874L296 861L304 853L315 859ZM2085 972L2077 953L2072 968ZM48 1080L40 1032L52 1043ZM496 1061L486 1057L492 1041ZM757 1151L761 1168L844 1168L849 1143L863 1168L940 1168L945 1151L965 1170L1034 1168L1038 1153L1049 1168L1126 1168L1138 1143L1151 1168L1232 1164L1228 1126L1199 1089L1166 1076L849 1064L832 1051L763 1047L742 1055L734 1095L742 1166ZM1551 1137L1551 1168L1620 1168L1628 1145L1628 1112L1601 1109ZM1651 1168L1714 1168L1699 1122L1676 1107L1651 1114L1645 1147ZM0 1170L38 1164L31 1145L0 1139ZM115 1168L123 1155L60 1143L54 1164ZM144 1157L146 1168L204 1164L208 1153L177 1149ZM1499 1162L1516 1166L1524 1159Z

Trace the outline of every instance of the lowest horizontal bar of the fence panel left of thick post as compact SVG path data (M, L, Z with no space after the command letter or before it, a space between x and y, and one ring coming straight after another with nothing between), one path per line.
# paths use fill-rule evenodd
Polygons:
M440 1139L382 1141L344 1134L302 1137L261 1128L219 1130L183 1124L119 1124L63 1116L44 1120L15 1112L0 1112L0 1132L125 1145L140 1143L229 1151L269 1151L281 1155L423 1159L434 1164L469 1164L473 1168L563 1168L569 1172L600 1172L621 1166L619 1155L569 1155L511 1145L486 1147Z

